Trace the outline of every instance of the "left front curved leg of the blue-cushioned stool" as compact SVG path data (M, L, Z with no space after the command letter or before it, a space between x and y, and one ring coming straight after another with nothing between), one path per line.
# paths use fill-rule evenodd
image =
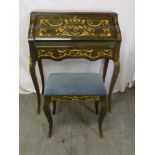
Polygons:
M44 113L45 116L48 120L49 123L49 137L52 136L52 127L53 127L53 120L52 120L52 115L51 115L51 111L50 111L50 103L51 103L51 97L50 96L44 96Z

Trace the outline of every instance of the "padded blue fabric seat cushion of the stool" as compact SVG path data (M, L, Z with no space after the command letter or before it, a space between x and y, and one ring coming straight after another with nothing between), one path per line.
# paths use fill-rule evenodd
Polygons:
M102 76L97 73L53 73L45 85L46 96L106 96Z

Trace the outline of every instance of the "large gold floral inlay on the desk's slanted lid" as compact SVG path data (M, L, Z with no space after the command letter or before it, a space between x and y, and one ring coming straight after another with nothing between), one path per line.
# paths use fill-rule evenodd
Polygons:
M38 37L111 37L108 19L85 19L77 16L40 18Z

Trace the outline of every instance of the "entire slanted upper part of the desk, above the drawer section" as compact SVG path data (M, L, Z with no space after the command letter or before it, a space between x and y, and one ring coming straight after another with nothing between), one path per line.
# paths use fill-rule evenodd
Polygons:
M116 13L32 12L29 40L120 41Z

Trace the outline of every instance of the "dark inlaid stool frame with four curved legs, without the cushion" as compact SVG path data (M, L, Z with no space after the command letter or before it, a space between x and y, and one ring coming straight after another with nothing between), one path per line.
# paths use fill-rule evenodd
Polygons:
M68 100L70 101L77 101L77 100L95 101L96 114L98 114L98 104L100 103L101 110L100 110L99 117L98 117L98 128L99 128L100 137L103 137L102 122L108 110L107 96L44 96L43 110L49 123L48 136L49 137L52 136L52 129L53 129L52 114L54 115L56 111L56 101L68 101ZM52 114L50 110L51 101L53 103Z

